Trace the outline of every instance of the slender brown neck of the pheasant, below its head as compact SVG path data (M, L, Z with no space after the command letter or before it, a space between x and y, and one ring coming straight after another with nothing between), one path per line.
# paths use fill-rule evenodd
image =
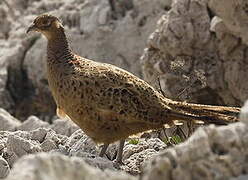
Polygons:
M53 32L52 38L48 40L47 59L55 63L66 62L73 58L73 53L67 41L63 28Z

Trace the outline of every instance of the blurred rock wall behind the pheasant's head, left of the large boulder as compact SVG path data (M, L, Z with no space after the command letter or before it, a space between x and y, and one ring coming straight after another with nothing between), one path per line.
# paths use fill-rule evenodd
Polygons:
M41 13L59 16L77 54L120 66L141 76L139 57L170 0L69 0L1 2L0 107L18 118L53 116L47 85L46 40L25 31ZM9 7L9 8L8 8ZM55 10L56 9L56 10ZM11 13L9 13L11 12ZM1 26L2 27L2 26ZM7 87L7 88L6 88Z

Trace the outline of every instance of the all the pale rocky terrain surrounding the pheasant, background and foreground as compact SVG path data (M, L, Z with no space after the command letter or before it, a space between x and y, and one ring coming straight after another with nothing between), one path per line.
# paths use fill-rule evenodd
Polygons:
M127 69L173 99L242 106L247 11L245 0L1 1L0 179L247 179L248 105L242 122L200 127L175 147L160 132L131 137L124 165L112 161L115 144L98 157L99 145L55 116L45 39L25 34L36 15L53 13L79 55Z

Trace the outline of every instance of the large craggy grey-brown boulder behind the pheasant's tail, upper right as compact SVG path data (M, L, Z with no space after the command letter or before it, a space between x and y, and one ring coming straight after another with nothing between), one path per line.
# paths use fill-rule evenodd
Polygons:
M177 0L141 58L169 97L240 106L248 97L246 1Z

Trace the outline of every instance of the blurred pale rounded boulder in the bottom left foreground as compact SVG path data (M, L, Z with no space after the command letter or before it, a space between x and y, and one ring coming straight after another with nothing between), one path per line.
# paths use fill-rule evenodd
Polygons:
M25 167L25 168L24 168ZM20 169L23 169L20 171ZM39 173L37 173L39 172ZM35 154L21 158L6 180L37 179L94 179L94 180L135 180L136 177L124 172L101 171L87 165L81 158L66 157L60 154Z

